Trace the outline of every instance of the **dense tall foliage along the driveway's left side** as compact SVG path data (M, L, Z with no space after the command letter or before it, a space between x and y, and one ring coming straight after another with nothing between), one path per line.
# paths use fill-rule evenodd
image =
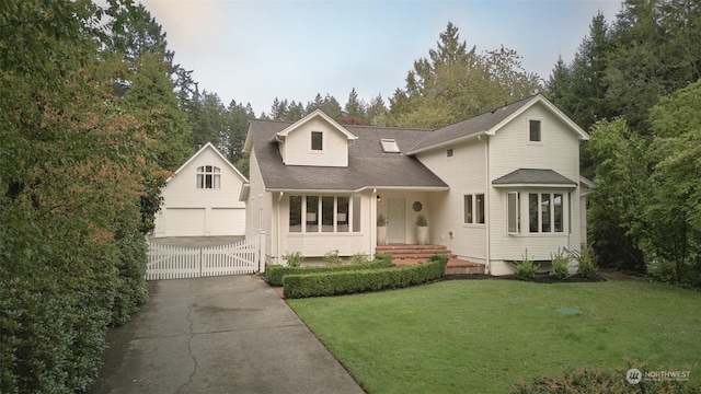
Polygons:
M147 298L143 235L186 134L163 54L105 50L103 16L130 8L0 2L2 393L84 391Z

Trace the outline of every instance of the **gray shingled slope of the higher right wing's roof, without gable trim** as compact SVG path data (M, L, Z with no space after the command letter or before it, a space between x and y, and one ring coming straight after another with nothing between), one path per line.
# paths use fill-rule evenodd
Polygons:
M512 114L517 112L533 97L535 96L526 97L524 100L507 104L491 112L473 116L462 121L458 121L457 124L436 129L433 132L428 134L416 146L414 146L411 149L410 153L422 151L432 147L437 147L460 138L476 135L481 131L487 131L509 117Z

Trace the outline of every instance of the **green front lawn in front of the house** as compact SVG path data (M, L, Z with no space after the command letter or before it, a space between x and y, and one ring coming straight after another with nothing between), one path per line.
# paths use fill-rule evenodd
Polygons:
M507 393L628 358L701 380L701 294L663 285L453 280L288 302L372 394Z

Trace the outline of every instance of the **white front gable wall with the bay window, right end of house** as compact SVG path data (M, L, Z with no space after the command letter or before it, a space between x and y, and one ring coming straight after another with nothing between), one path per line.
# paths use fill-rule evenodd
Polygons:
M528 142L528 123L541 120L541 143ZM541 104L536 104L508 125L496 131L490 139L490 179L496 179L518 169L553 170L578 184L579 141L577 135L560 121ZM520 192L520 234L507 234L507 192ZM528 233L528 192L563 193L571 196L570 207L564 207L565 232L551 234ZM560 247L579 247L579 190L578 188L491 188L491 259L516 260L528 256L537 260L549 260L550 253ZM572 218L571 222L567 223ZM571 230L571 233L570 231ZM506 269L495 264L493 270Z

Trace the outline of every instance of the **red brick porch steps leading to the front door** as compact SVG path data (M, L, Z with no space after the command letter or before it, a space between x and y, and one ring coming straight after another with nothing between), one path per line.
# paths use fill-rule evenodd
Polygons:
M460 259L444 245L382 245L377 246L375 253L392 255L392 265L395 266L426 262L433 254L446 254L450 257L446 275L483 275L485 271L484 264Z

